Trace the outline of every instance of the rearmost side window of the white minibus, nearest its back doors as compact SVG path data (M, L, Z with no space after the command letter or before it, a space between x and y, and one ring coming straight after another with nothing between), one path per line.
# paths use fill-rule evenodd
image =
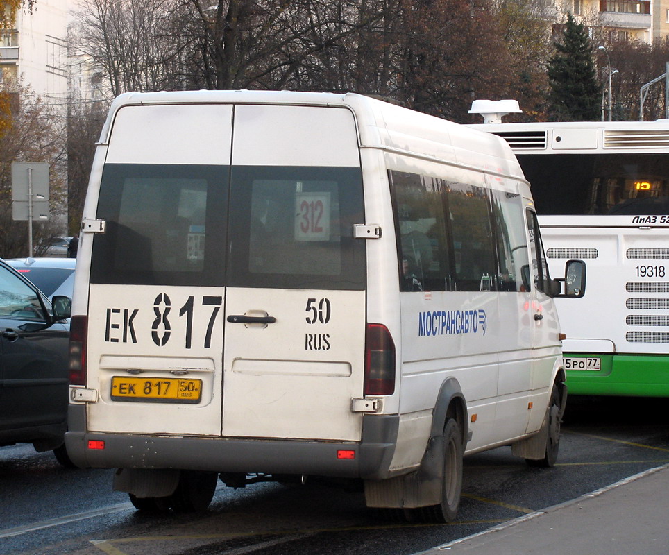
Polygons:
M443 182L391 171L401 291L446 291L452 280Z

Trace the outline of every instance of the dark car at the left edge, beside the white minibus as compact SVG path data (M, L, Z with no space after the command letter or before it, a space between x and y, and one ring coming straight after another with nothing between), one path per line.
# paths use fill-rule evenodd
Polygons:
M69 325L51 302L0 260L0 445L32 443L69 466L67 427Z

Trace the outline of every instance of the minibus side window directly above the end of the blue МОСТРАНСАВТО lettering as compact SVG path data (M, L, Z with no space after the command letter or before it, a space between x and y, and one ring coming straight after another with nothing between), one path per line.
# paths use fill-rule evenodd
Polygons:
M448 182L455 291L492 291L497 274L488 189Z

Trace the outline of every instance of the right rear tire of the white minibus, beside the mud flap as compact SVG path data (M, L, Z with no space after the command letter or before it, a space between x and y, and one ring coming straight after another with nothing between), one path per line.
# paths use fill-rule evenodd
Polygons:
M462 434L455 420L449 418L443 427L443 479L441 503L418 509L421 520L453 522L460 506L462 492Z

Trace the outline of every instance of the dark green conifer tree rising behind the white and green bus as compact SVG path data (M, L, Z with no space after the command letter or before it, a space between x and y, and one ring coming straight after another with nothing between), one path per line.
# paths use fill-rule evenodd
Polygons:
M597 82L593 47L582 24L571 14L562 35L554 43L557 53L548 60L550 104L558 121L599 119L602 87Z

